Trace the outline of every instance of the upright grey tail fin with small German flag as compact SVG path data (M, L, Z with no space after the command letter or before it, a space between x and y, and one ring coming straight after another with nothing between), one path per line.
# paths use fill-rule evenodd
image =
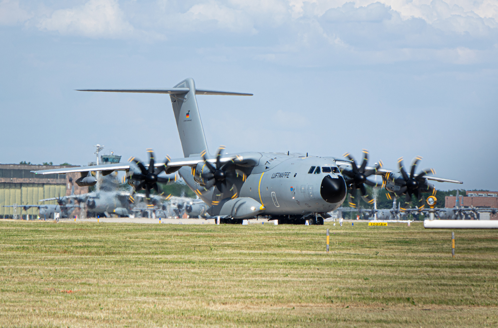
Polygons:
M185 157L198 155L204 150L207 151L208 146L195 98L194 80L192 78L185 79L174 88L189 88L189 91L185 94L170 95L183 155Z

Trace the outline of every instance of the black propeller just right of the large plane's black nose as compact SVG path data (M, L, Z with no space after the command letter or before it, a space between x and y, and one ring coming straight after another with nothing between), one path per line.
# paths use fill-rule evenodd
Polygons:
M356 197L358 189L360 189L362 199L367 202L367 204L372 204L373 198L367 194L367 188L365 187L365 184L372 187L377 187L377 184L368 180L367 177L373 175L375 172L377 172L378 168L382 167L382 161L379 161L379 164L377 164L374 169L366 170L367 163L369 161L369 151L367 149L363 149L363 162L359 168L356 164L355 159L353 158L353 156L351 156L350 153L346 153L343 156L351 161L352 167L351 171L346 169L343 169L342 171L342 174L346 176L346 185L350 189L348 195L349 206L352 208L357 207L358 204L356 203Z

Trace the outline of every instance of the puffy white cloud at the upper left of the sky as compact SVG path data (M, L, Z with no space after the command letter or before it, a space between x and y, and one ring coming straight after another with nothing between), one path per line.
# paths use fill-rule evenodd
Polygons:
M88 37L119 37L133 30L116 0L90 0L78 7L55 10L41 18L37 27Z

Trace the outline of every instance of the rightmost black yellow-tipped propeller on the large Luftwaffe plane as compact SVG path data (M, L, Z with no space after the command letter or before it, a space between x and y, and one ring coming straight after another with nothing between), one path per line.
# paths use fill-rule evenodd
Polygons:
M398 195L405 194L405 206L401 208L401 210L405 210L408 208L408 204L411 202L412 195L415 195L417 198L417 208L421 211L425 204L422 202L422 193L432 193L432 195L436 194L436 189L434 185L427 182L427 179L424 178L425 175L435 174L434 169L425 169L422 170L419 174L415 174L415 170L417 168L418 162L422 159L421 156L415 157L413 162L411 163L410 175L406 173L403 167L403 157L398 158L398 167L399 172L401 173L402 180L396 179L395 183L400 186Z

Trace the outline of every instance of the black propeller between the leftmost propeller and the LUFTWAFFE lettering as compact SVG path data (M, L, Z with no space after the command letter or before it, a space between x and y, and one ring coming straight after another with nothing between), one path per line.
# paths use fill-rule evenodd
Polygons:
M218 148L215 165L211 164L208 161L206 157L206 151L202 153L204 164L208 168L209 172L202 173L201 177L203 181L206 182L206 189L210 189L211 187L216 186L218 191L221 192L220 195L216 195L216 193L214 193L214 196L221 196L221 199L224 199L228 196L227 194L233 194L231 197L236 198L238 196L238 192L235 187L235 179L242 177L242 181L245 181L247 176L244 172L234 167L233 164L235 163L235 161L233 158L228 163L221 163L221 152L225 148L225 146L220 146Z

